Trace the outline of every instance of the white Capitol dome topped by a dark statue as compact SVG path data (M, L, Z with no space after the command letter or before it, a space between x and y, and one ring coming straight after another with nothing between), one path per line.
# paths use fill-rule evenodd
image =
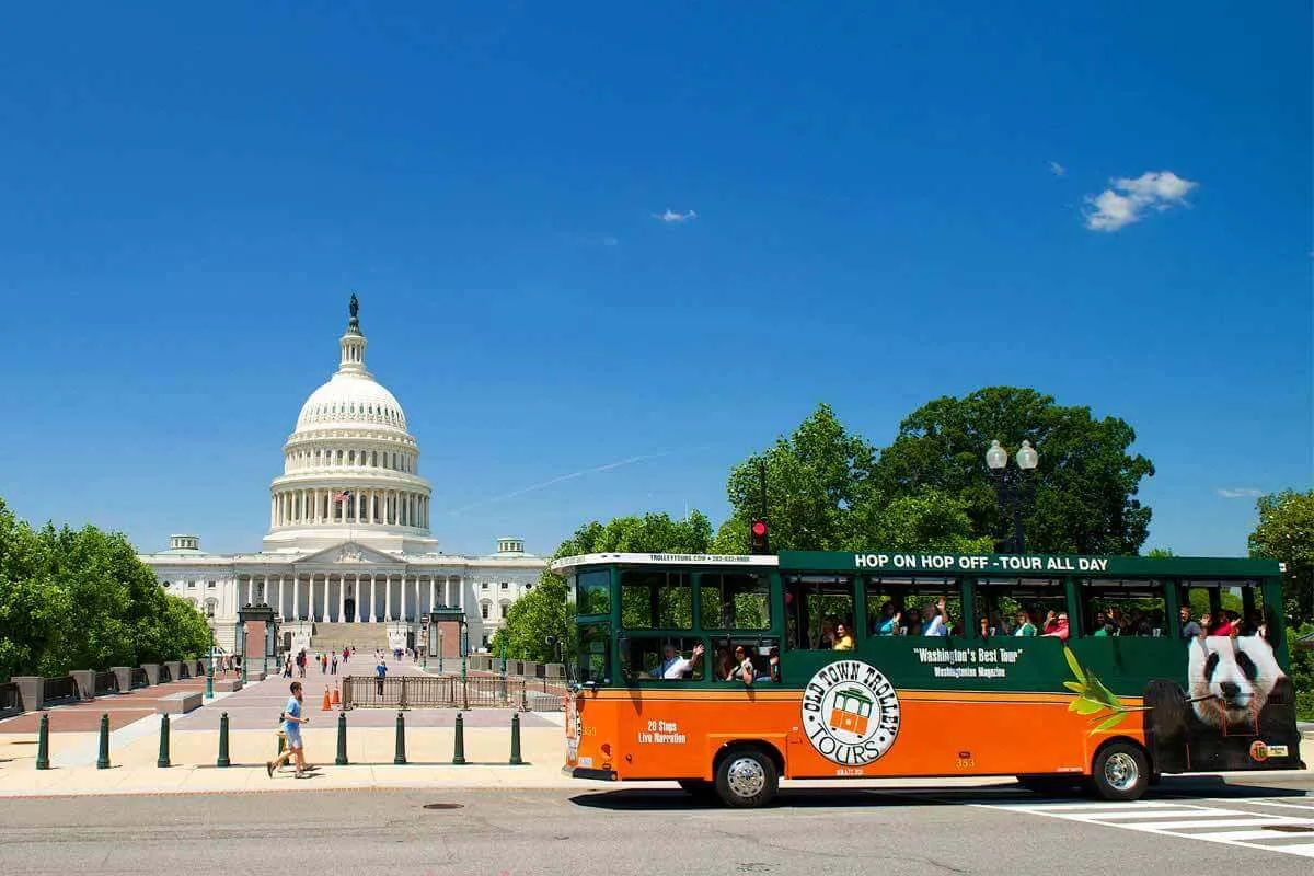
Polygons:
M271 485L265 550L314 552L357 542L389 553L435 550L430 485L397 398L365 370L365 336L351 297L338 370L301 406Z

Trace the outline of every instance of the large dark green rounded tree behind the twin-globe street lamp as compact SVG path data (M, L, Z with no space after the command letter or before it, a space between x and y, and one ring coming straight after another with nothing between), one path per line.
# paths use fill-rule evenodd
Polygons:
M991 440L1039 450L1034 502L1025 514L1028 550L1134 554L1146 540L1150 508L1137 498L1154 464L1130 452L1135 432L1123 420L1095 419L1034 389L993 386L945 397L913 411L875 466L875 493L891 500L928 489L959 498L974 536L999 541L1001 514L984 454ZM1012 465L1012 461L1010 464Z

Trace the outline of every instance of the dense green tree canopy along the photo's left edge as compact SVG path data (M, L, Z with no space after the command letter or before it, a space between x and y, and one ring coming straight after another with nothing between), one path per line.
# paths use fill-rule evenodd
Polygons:
M210 630L120 533L33 529L0 499L0 679L200 655Z

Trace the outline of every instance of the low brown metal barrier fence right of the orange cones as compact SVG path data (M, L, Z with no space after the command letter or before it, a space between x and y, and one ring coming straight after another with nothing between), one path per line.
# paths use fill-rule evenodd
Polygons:
M565 684L541 678L459 675L342 679L344 709L561 709Z

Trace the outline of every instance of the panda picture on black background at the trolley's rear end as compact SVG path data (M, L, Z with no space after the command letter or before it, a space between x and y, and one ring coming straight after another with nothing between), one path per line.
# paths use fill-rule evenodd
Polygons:
M1156 679L1144 691L1156 771L1300 768L1296 691L1275 642L1209 636L1185 647L1188 690Z

